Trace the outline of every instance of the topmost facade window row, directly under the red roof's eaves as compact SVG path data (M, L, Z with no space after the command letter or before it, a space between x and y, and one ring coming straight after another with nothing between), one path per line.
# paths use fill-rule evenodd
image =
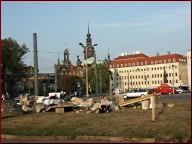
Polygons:
M176 69L177 66L174 66L174 69ZM172 69L172 66L165 66L165 69ZM154 68L151 68L151 70L163 70L163 67L154 67ZM149 68L143 68L143 69L140 69L140 68L136 68L136 69L132 69L132 70L122 70L122 71L118 71L119 73L126 73L126 72L140 72L140 71L149 71Z

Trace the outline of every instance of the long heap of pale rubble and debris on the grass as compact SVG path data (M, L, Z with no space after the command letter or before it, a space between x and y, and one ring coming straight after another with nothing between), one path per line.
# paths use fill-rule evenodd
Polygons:
M99 113L101 110L100 97L97 98L79 98L72 97L64 100L57 96L28 96L20 95L15 99L17 108L23 113L28 112L47 112L54 110L57 113L65 112L65 109L71 108L76 113ZM113 101L109 101L110 111L117 111L119 107Z

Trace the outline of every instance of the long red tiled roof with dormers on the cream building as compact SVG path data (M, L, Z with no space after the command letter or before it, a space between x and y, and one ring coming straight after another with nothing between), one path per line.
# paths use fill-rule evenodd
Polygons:
M168 54L158 56L146 56L144 54L134 54L127 56L119 56L113 61L109 62L110 68L112 67L132 67L161 63L172 62L186 62L186 57L180 54Z

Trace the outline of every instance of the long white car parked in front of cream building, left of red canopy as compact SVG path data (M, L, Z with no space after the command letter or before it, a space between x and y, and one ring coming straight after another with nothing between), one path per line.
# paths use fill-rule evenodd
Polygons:
M130 97L140 97L140 96L145 96L148 94L147 89L132 89L129 93L125 93L123 96L124 99L130 98Z

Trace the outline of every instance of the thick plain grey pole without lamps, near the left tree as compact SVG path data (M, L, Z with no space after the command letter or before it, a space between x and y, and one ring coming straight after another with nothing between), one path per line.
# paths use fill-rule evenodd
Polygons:
M35 95L38 96L38 57L37 57L37 33L33 33L33 50L34 50L34 80Z

